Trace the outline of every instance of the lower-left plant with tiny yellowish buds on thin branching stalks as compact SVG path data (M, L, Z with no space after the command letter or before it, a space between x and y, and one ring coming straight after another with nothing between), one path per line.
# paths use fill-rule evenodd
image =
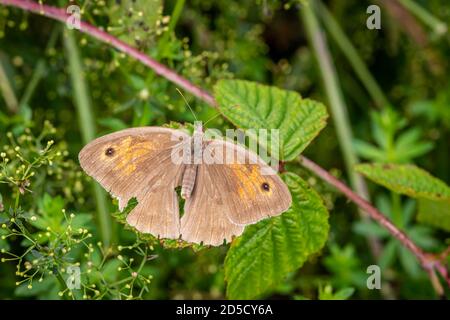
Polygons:
M151 280L143 270L151 249L139 240L116 248L95 243L92 216L66 213L67 202L73 201L71 192L81 189L73 188L77 182L66 180L65 198L44 193L34 196L35 202L24 202L30 188L39 190L40 184L54 184L51 176L63 180L64 168L74 170L72 162L63 160L67 151L48 140L57 133L50 123L37 137L29 129L24 131L18 138L7 134L11 145L3 147L6 152L1 153L0 163L0 183L13 196L2 202L0 210L1 262L15 264L19 278L15 294L47 299L141 298ZM21 248L20 253L12 251L13 245ZM134 258L118 254L122 250L134 252L142 260L136 264ZM68 285L73 268L80 271L80 288L76 289Z

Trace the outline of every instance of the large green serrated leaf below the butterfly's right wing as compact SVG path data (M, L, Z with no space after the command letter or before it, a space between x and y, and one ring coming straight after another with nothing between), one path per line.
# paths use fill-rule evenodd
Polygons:
M328 236L328 211L299 176L283 175L293 202L282 215L248 226L225 259L227 295L251 299L267 292L317 253Z

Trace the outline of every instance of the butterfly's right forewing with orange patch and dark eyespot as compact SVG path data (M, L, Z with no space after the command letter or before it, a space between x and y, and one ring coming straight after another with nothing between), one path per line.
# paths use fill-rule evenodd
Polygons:
M204 152L215 159L205 165L226 199L231 222L256 223L289 209L292 197L286 184L255 153L225 140L210 141Z

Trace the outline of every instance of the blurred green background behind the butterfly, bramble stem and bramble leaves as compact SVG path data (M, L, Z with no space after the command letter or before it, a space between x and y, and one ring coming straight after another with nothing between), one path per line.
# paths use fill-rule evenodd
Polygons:
M372 2L381 9L380 30L366 27ZM346 168L352 159L415 163L450 183L446 0L322 1L315 3L312 20L304 10L307 1L78 4L83 20L206 90L218 79L239 78L323 102L331 119L305 154L349 183L352 174ZM311 41L317 33L327 43L322 51ZM334 68L320 68L327 62ZM0 152L11 159L2 162L8 174L0 176L0 212L4 218L14 208L28 223L0 240L5 259L1 299L225 297L228 246L164 248L154 239L136 237L117 223L120 214L112 214L117 203L92 187L77 161L79 150L94 137L133 126L193 122L175 85L88 35L3 5L0 84ZM200 119L217 114L184 95ZM209 127L232 126L217 117ZM339 130L351 134L337 136ZM292 170L307 179L330 210L329 239L320 254L263 298L436 298L410 252L375 223L361 220L330 186L300 166ZM419 246L430 252L448 246L448 232L417 221L414 200L367 186L371 201ZM29 233L41 239L39 250L27 242ZM43 254L46 250L58 259ZM44 273L33 275L34 260ZM71 296L61 272L75 262L84 284ZM371 264L382 267L382 290L366 287Z

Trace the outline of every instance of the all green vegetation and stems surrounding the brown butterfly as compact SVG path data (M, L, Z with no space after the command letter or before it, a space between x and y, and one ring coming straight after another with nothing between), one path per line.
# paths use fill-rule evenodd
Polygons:
M379 0L370 30L371 4L83 0L72 30L67 1L0 0L0 298L449 297L450 11ZM287 212L220 247L127 226L78 152L190 127L178 89L210 128L279 129Z

